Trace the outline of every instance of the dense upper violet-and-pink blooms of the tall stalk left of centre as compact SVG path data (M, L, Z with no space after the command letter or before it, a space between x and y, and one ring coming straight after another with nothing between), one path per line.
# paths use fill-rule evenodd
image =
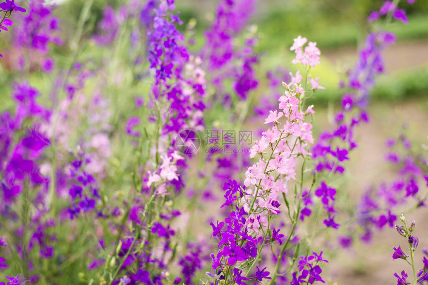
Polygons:
M198 130L203 125L201 111L205 109L202 98L206 81L201 61L189 54L183 35L174 25L174 1L149 1L146 7L151 6L155 8L150 13L155 16L147 26L147 48L150 71L155 79L152 100L157 105L163 104L157 106L162 110L159 109L154 118L162 120L167 133L177 134L189 126ZM148 14L141 16L144 20ZM167 107L173 115L166 114Z

